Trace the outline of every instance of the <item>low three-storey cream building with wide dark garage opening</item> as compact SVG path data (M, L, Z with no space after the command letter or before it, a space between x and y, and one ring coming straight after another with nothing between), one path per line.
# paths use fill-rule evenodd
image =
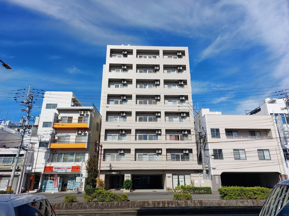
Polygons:
M222 185L273 187L286 179L273 116L222 115L201 109L195 127L198 149L200 140L204 143L213 191Z

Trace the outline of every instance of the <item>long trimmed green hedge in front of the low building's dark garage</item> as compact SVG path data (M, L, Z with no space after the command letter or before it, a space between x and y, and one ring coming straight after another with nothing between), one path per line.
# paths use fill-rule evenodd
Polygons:
M267 199L272 189L266 187L220 187L221 199Z

